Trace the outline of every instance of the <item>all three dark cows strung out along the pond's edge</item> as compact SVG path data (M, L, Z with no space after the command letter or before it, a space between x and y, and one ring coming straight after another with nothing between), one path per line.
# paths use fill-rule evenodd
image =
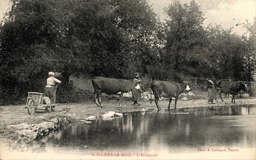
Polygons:
M125 80L125 79L112 79L112 78L105 78L105 77L93 77L92 84L94 87L94 95L93 98L96 101L97 106L103 107L101 102L101 93L106 93L108 95L111 94L119 94L120 101L119 101L119 110L122 110L121 103L123 99L123 94L128 93L131 90L137 89L140 90L140 80ZM216 87L218 88L218 93L221 98L221 93L230 93L232 94L232 103L235 103L235 95L238 94L240 90L244 90L247 92L247 86L244 83L237 83L237 82L227 82L227 81L218 81L215 83ZM172 97L175 98L175 109L177 100L180 93L183 93L185 90L189 91L189 84L187 82L177 83L172 81L152 81L151 83L151 90L154 94L154 101L157 105L157 109L160 110L161 108L158 105L158 99L161 97L163 93L169 97L169 105L168 109L170 109L170 104L172 102ZM222 102L223 99L221 98Z

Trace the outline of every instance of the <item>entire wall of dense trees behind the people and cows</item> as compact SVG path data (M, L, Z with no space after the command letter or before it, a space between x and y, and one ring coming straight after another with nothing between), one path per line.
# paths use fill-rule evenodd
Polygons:
M192 76L251 81L256 31L243 36L205 19L192 2L173 3L160 22L146 0L12 0L0 24L0 104L43 92L60 73L59 102L73 100L70 76L153 79ZM61 92L61 93L60 93Z

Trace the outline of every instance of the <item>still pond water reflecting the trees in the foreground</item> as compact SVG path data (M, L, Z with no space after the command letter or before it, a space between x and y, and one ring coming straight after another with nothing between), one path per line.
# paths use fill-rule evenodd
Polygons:
M255 148L256 106L181 108L124 113L49 134L41 149L62 153L188 153L199 148Z

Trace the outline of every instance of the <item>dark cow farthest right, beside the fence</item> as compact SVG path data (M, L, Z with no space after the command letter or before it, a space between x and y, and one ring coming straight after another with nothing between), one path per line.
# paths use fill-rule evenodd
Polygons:
M218 94L221 98L221 93L226 93L226 94L232 94L232 100L231 102L234 103L235 102L235 96L238 94L238 92L240 90L244 90L247 92L247 86L244 83L241 82L230 82L230 81L217 81L216 82L216 87L218 87ZM221 101L223 101L223 99L221 98Z

